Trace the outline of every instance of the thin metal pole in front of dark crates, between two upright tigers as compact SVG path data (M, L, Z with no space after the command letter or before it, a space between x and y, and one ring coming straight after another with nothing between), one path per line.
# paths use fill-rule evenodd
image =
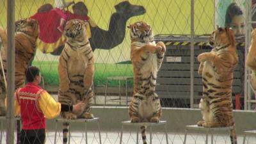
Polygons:
M194 0L191 0L190 108L194 108Z

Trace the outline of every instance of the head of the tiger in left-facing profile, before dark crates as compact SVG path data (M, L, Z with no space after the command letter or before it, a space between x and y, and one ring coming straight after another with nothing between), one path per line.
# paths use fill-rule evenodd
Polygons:
M234 46L236 45L234 32L231 28L217 28L212 32L209 43L214 47L226 44Z

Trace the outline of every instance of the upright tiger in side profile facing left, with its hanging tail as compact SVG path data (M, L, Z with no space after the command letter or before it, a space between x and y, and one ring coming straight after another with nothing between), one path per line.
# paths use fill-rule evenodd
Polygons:
M238 56L234 32L230 28L217 28L210 36L211 52L198 55L200 66L198 74L202 76L203 97L199 107L203 120L197 123L203 127L228 127L232 144L237 143L235 123L232 112L233 72Z

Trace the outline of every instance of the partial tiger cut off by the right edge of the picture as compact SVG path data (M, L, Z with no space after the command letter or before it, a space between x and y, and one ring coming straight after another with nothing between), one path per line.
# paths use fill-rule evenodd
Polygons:
M246 65L251 68L252 74L250 76L251 86L256 93L256 29L252 31L252 42L249 52L246 57Z

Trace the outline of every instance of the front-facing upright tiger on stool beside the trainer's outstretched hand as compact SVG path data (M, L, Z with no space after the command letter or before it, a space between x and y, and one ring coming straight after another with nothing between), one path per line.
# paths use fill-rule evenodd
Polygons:
M63 35L67 41L61 52L58 72L60 77L60 90L58 99L61 104L74 105L84 102L86 107L81 115L63 112L61 116L67 119L93 118L90 113L92 106L94 58L92 47L86 35L86 24L79 19L67 22ZM63 124L63 143L67 143L68 124Z

